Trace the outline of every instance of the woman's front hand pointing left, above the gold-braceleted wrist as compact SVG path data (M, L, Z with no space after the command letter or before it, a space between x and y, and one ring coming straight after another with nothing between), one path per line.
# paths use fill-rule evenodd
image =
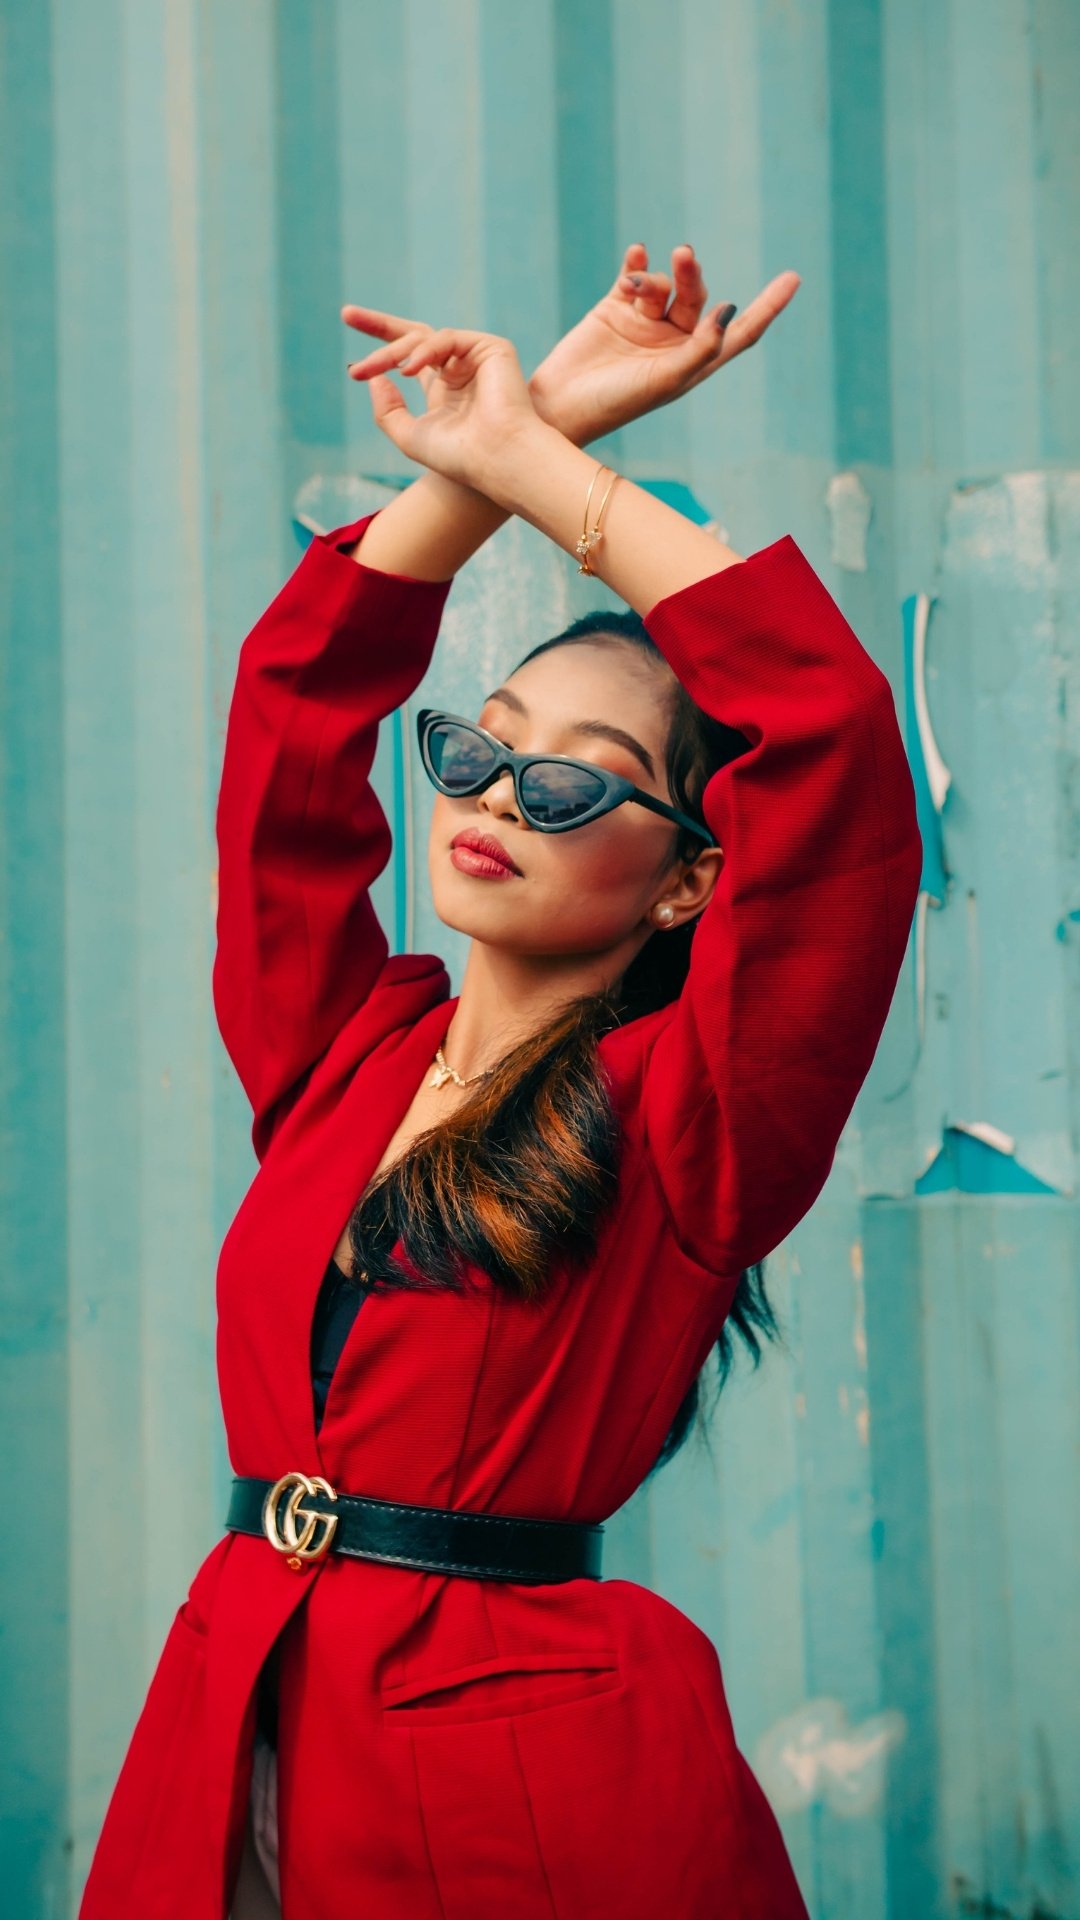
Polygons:
M507 442L540 424L513 340L480 334L465 326L436 326L409 348L409 336L394 348L367 355L352 369L365 378L377 426L402 453L448 480L486 492L484 476ZM427 413L409 411L384 369L423 374Z

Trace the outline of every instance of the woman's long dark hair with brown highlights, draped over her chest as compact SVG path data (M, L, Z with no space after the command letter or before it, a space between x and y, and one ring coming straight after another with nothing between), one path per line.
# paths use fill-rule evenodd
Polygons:
M665 774L678 808L701 818L715 772L749 747L692 701L644 620L630 609L588 612L542 639L517 666L552 647L588 639L632 645L671 682ZM515 668L517 672L517 668ZM675 828L675 856L692 860L701 839ZM586 1261L619 1185L619 1123L598 1069L600 1037L626 1020L669 1006L686 981L696 920L651 935L615 989L578 995L538 1033L511 1048L496 1071L446 1121L417 1135L350 1219L356 1269L375 1290L463 1290L477 1265L496 1286L540 1298L555 1260ZM413 1273L390 1258L396 1242ZM765 1294L765 1261L746 1267L715 1342L717 1396L732 1363L732 1331L753 1365L761 1338L780 1338ZM653 1467L678 1452L701 1411L701 1367L671 1423Z

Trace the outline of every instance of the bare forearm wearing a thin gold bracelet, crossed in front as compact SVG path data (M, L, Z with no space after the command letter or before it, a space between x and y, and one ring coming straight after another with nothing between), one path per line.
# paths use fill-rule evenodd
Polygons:
M577 559L584 501L596 468L592 453L573 445L557 428L536 420L528 432L492 449L482 476L484 495L505 513L517 513L540 528ZM596 482L590 526L609 480L607 472ZM621 474L611 490L601 534L603 540L590 553L592 572L640 614L669 593L742 561L740 553L694 526L626 474Z

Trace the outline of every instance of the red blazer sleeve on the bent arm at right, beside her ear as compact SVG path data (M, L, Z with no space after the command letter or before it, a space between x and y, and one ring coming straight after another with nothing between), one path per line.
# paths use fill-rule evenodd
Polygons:
M790 534L644 618L749 741L705 789L724 864L644 1077L676 1238L738 1273L821 1192L874 1056L919 897L915 785L892 687Z

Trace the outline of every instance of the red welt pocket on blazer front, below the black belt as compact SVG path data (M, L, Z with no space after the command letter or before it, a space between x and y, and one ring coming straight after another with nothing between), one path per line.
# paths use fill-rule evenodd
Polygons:
M394 1724L452 1726L565 1707L619 1686L623 1670L615 1647L563 1647L496 1653L469 1667L384 1686L380 1697Z

